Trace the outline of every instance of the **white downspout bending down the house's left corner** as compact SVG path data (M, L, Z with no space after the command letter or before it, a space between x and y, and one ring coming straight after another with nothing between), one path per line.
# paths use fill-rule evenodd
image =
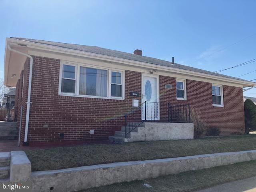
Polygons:
M28 101L27 101L27 112L26 112L26 124L25 124L25 135L24 135L24 142L27 142L27 138L28 138L28 122L29 122L29 111L30 111L30 95L31 95L31 81L32 81L32 67L33 67L33 58L32 56L19 52L17 50L14 50L10 47L10 45L7 45L7 48L10 51L22 54L24 56L27 56L28 58L30 58L30 67L29 67L29 78L28 78ZM23 76L24 78L24 76ZM21 122L20 122L21 123Z

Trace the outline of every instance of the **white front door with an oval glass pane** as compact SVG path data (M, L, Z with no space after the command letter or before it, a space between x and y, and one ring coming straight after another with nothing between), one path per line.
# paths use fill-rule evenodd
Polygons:
M142 74L142 120L159 120L158 76Z

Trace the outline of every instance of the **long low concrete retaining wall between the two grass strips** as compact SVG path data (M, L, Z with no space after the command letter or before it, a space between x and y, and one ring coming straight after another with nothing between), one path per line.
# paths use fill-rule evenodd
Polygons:
M32 172L30 180L34 192L48 192L50 187L54 192L72 192L250 160L256 160L256 150L38 171Z

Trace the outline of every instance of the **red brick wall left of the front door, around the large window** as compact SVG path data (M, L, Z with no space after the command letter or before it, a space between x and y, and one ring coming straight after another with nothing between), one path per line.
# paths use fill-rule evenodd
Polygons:
M60 60L33 57L28 141L67 142L106 140L124 124L123 114L132 110L130 92L141 90L141 74L125 72L125 100L58 95ZM140 116L139 116L140 118ZM48 124L44 128L43 124ZM94 135L89 130L95 130ZM59 138L64 133L64 139Z

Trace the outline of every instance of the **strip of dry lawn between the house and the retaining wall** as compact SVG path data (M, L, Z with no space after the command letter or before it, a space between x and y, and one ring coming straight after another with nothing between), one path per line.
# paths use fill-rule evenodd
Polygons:
M112 162L172 158L256 149L256 135L196 140L145 141L124 144L86 144L29 150L32 171L56 170Z

